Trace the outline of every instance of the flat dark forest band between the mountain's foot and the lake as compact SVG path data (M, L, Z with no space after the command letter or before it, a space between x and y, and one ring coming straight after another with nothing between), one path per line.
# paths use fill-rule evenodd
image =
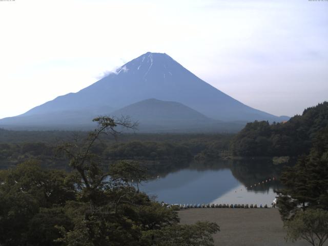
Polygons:
M15 139L17 132L10 132ZM6 133L8 134L8 133ZM0 169L13 167L29 159L40 160L43 167L67 168L65 159L57 153L57 146L65 141L86 138L85 132L22 132L25 141L5 143L9 135L0 137ZM56 135L58 134L58 135ZM63 135L64 140L54 136ZM227 155L233 135L224 134L122 134L119 141L104 136L92 146L92 151L103 160L166 161L172 164L190 162L197 158L220 158Z

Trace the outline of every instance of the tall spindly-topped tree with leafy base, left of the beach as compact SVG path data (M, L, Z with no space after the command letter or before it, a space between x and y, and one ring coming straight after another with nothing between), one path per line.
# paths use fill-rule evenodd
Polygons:
M151 237L151 240L143 239L145 233L157 235L161 230L166 230L169 238L180 237L174 233L179 221L177 213L173 209L162 207L132 185L132 179L137 183L146 180L144 169L136 162L129 161L118 161L106 168L92 153L92 146L100 134L115 135L114 127L117 126L116 122L108 117L99 117L95 121L98 122L98 127L84 144L67 144L59 148L67 153L70 166L80 175L82 186L79 188L79 201L67 203L66 206L74 229L58 227L62 237L58 238L57 242L70 246L162 245L158 244L154 237ZM129 122L121 122L119 125L133 127ZM194 240L211 238L211 235L217 232L215 225L202 228L201 231L206 236L198 233L193 236ZM174 228L171 230L171 227ZM195 232L197 228L200 229L193 228Z

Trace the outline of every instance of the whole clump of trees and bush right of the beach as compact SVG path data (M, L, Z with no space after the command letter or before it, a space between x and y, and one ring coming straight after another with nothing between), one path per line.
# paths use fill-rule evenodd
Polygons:
M309 155L285 168L278 207L287 239L324 245L328 239L328 127L313 137Z

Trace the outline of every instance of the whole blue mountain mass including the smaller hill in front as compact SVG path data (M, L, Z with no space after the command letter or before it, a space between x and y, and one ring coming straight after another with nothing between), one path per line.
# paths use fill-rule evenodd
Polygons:
M0 119L0 127L75 129L92 126L91 119L104 114L129 114L141 128L156 125L167 131L195 127L197 123L201 128L210 124L211 129L220 131L222 122L227 121L239 122L236 124L242 128L248 121L289 118L244 105L169 55L147 52L76 93L58 96L22 115Z

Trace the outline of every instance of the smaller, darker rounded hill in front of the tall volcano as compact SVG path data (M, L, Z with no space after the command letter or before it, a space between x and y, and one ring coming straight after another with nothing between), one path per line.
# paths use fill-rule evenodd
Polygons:
M245 122L227 124L175 101L154 98L116 110L111 115L118 118L129 115L132 121L138 121L138 130L141 132L236 132L245 124Z

